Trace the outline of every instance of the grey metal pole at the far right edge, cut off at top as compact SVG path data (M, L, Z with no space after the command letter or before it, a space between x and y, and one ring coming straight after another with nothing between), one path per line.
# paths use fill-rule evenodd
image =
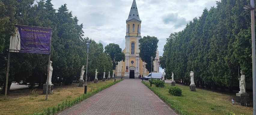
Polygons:
M251 11L251 53L252 53L252 89L253 89L253 114L256 115L256 52L255 52L255 19L254 19L254 0L250 6L244 6L245 10Z

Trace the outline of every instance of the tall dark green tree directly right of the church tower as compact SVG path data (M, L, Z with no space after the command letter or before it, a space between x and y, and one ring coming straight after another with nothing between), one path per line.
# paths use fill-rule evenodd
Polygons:
M143 62L146 62L146 69L151 71L151 57L153 57L153 61L156 58L157 54L157 37L154 36L144 36L143 38L139 39L139 56ZM154 64L152 63L152 69L154 71Z

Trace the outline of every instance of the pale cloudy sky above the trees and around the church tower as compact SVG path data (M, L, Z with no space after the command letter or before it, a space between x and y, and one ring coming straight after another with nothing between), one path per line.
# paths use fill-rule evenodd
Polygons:
M158 50L163 54L166 38L184 29L204 8L216 6L218 0L136 0L141 23L141 35L159 39ZM79 24L84 25L84 35L101 42L125 48L126 20L133 0L53 0L55 9L67 4ZM163 70L160 70L162 72Z

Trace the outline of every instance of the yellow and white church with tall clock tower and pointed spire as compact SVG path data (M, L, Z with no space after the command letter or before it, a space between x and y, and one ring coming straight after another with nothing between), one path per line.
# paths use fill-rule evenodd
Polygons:
M136 5L136 0L133 0L132 7L128 19L126 20L126 36L125 36L125 62L118 62L118 65L113 72L117 77L123 78L139 78L139 75L147 76L150 72L145 68L145 62L142 62L139 57L139 39L141 37L141 20ZM159 52L157 51L154 63L154 71L159 72Z

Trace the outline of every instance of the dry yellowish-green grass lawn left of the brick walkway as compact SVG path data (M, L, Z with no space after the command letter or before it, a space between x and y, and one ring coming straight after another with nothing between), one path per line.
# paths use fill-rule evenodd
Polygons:
M114 80L106 80L98 83L87 82L87 92L94 89L113 83ZM77 83L69 86L54 86L54 93L48 95L48 100L45 100L45 95L42 95L42 89L31 91L29 89L11 91L7 95L7 100L4 100L4 95L0 95L0 115L29 115L33 113L43 112L47 107L61 104L62 101L72 100L84 94L84 87L78 87Z

